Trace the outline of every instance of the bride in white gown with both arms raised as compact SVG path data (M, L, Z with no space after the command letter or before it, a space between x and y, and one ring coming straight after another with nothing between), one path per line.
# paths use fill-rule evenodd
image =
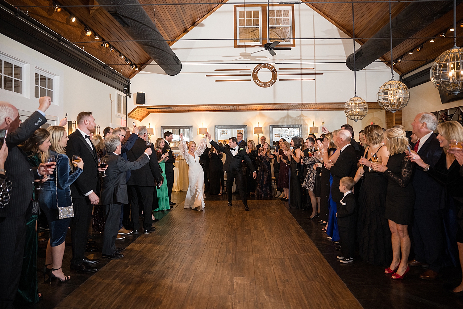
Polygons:
M204 209L204 172L200 164L200 155L207 146L206 137L201 139L200 145L196 146L194 141L187 143L183 140L183 133L180 133L180 153L188 164L188 191L185 197L185 206L183 208Z

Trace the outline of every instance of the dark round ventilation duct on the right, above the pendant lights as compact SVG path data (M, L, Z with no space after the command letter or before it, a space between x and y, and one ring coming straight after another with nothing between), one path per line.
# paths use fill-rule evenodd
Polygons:
M461 2L461 1L460 1ZM412 37L436 20L436 15L453 1L412 2L392 19L392 46L395 47ZM437 30L436 30L437 31ZM355 51L355 67L359 71L391 50L389 23L376 32ZM398 55L399 56L399 55ZM346 59L346 65L354 70L354 54Z

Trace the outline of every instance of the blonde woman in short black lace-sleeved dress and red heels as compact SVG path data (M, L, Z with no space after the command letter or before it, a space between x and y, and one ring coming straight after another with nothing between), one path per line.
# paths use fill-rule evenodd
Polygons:
M389 221L392 233L392 263L384 272L393 274L393 279L402 279L410 270L407 265L411 246L408 225L412 221L415 202L415 190L411 182L413 164L405 152L408 139L402 129L386 130L384 141L390 153L388 164L371 164L373 170L383 173L388 179L385 218Z

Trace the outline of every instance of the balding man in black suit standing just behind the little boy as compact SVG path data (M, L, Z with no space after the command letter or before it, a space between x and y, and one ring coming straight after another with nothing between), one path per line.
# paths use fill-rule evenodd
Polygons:
M331 171L333 175L333 184L331 186L331 196L333 201L336 202L338 208L340 201L344 197L344 194L339 191L339 181L342 177L355 177L357 172L357 155L354 147L350 144L351 134L347 130L341 130L336 134L335 144L340 149L338 160L333 165L331 163L325 163L325 167ZM323 151L328 151L324 149Z

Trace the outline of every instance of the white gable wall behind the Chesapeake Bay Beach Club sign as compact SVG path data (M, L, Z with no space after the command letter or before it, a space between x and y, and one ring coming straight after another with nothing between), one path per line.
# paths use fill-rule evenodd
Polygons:
M275 57L270 56L267 51L262 51L252 56L263 58L248 60L238 59L239 54L255 52L260 48L234 48L233 40L177 41L172 45L172 49L183 64L181 73L176 76L167 76L160 74L162 70L157 65L148 66L131 79L132 93L146 93L147 105L324 103L349 100L354 96L354 73L346 67L344 62L353 50L352 39L348 39L343 32L310 7L295 5L294 9L296 38L346 39L296 40L296 46L292 50L276 50ZM233 19L233 5L223 5L182 39L233 38ZM236 56L237 60L230 56ZM321 63L326 61L339 63ZM236 64L227 64L231 62ZM275 64L277 69L313 67L314 71L307 72L324 73L324 75L315 76L315 81L277 81L269 88L261 88L252 81L214 82L222 78L206 77L208 74L217 74L218 72L214 69L253 69L257 63L263 62L282 63ZM249 71L243 73L246 72L249 73ZM390 69L383 63L373 63L357 72L357 95L366 101L376 101L378 88L390 79L390 74ZM299 77L301 76L294 78ZM243 77L243 79L249 78L249 76ZM127 110L131 111L135 107L133 100L129 99ZM333 113L335 114L337 113ZM192 114L191 117L197 116ZM228 116L223 117L228 118ZM326 117L327 123L330 122L330 117ZM345 123L345 121L342 122ZM315 125L320 126L320 123L316 122Z

